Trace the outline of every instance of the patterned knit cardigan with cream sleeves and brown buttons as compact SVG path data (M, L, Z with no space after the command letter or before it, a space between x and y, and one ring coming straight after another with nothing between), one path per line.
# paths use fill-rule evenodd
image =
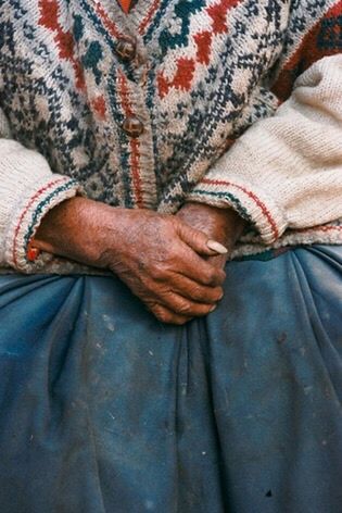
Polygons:
M138 0L129 16L1 0L0 265L72 270L26 250L80 190L233 208L250 221L235 254L340 243L341 52L341 0Z

